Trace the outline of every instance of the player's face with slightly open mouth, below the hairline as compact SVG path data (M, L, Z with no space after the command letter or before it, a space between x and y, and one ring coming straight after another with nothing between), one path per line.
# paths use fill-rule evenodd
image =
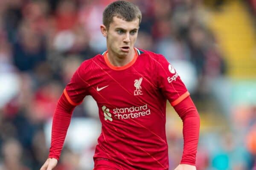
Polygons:
M132 52L139 29L139 19L125 21L113 17L113 21L106 31L108 50L116 57L123 58Z

